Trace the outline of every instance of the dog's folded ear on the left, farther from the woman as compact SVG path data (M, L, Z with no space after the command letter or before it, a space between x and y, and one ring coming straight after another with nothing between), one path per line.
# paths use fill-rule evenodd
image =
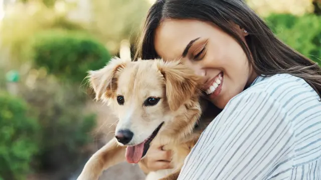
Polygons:
M117 88L118 72L126 67L130 60L113 57L108 64L98 70L88 72L89 83L95 91L95 99L111 98Z

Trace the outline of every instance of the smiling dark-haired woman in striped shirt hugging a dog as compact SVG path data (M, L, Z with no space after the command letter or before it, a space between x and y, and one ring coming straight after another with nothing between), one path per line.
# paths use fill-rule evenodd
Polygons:
M157 0L139 47L142 59L182 59L223 109L179 179L321 179L321 69L278 40L245 2ZM154 147L142 167L169 161Z

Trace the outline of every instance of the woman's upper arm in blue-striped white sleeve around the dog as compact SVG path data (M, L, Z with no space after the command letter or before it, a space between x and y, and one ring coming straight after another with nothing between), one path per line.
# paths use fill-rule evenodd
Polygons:
M202 133L179 179L266 179L291 164L292 150L287 112L263 90L244 92Z

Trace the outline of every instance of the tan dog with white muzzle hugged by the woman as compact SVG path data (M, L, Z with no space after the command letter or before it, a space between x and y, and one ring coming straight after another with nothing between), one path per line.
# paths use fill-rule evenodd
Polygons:
M89 80L96 99L106 101L119 121L115 137L91 156L77 179L96 180L125 159L137 163L150 143L167 144L175 168L150 172L147 178L177 179L184 159L214 118L199 121L201 79L179 61L113 58L90 71Z

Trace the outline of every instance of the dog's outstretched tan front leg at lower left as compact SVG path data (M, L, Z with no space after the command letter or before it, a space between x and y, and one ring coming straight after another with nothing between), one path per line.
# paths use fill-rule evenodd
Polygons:
M77 180L97 180L103 170L125 160L125 149L111 139L89 158Z

